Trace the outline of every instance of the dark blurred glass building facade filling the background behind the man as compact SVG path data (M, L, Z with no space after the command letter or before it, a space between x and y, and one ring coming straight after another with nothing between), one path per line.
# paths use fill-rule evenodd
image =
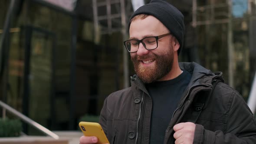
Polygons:
M76 130L82 116L99 115L104 99L134 74L122 41L135 7L150 0L138 1L1 0L0 100L53 131ZM167 1L185 18L180 61L222 71L247 100L256 0ZM23 131L39 134L26 124Z

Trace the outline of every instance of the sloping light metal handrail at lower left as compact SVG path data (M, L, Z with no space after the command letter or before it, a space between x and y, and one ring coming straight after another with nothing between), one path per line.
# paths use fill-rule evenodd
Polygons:
M7 111L10 111L13 115L16 115L17 117L19 117L20 119L25 121L27 124L30 124L33 127L37 128L39 131L42 131L43 133L49 135L50 137L53 137L56 140L59 139L59 136L57 134L54 134L52 131L43 127L41 124L38 124L36 121L33 121L32 119L26 117L26 115L23 115L19 111L16 111L14 108L12 108L9 105L3 103L2 101L0 101L0 106L3 107L3 111L5 111L5 109L6 109Z

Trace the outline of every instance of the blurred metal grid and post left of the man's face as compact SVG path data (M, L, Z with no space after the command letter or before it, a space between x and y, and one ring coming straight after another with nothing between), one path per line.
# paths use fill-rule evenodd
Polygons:
M102 34L112 34L114 32L121 32L123 39L128 38L127 19L129 13L132 13L130 11L131 3L125 3L125 0L92 0L92 8L95 43L99 41ZM103 15L99 13L102 10L106 10ZM128 54L125 49L123 49L123 65L124 87L127 88L129 87L129 68Z

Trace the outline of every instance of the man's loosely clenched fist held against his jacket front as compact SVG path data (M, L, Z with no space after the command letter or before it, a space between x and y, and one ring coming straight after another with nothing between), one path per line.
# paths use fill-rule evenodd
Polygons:
M174 125L176 139L175 144L193 144L196 124L192 122L184 122Z

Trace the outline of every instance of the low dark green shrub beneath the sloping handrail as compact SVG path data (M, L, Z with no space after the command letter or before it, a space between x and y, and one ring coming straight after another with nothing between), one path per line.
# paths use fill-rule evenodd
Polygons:
M20 120L0 118L0 137L19 137L21 129Z

